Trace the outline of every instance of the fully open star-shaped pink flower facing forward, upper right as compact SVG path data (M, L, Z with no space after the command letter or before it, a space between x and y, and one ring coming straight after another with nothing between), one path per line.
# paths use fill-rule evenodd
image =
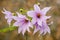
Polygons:
M51 7L45 7L40 9L37 4L34 5L34 10L28 11L27 15L32 17L32 24L37 22L38 25L42 26L42 21L46 21L46 19L51 16L46 16L47 11L49 11Z

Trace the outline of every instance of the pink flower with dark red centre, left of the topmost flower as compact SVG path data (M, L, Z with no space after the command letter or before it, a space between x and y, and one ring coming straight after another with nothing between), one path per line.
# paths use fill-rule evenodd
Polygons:
M26 31L30 32L29 27L32 28L32 24L30 23L29 19L26 18L25 15L21 15L18 12L17 15L18 16L14 16L13 19L16 20L14 26L19 26L18 33L22 32L24 35Z

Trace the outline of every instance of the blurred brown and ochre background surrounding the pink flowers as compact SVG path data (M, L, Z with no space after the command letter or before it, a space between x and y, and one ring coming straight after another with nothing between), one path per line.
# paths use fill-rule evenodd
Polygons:
M3 8L11 12L16 12L20 8L30 10L34 4L40 3L41 9L51 6L51 10L47 15L52 16L49 21L53 21L49 27L51 34L44 36L36 33L28 33L27 35L18 34L17 30L9 32L0 32L0 40L60 40L60 0L0 0L0 30L8 27L4 14L1 12Z

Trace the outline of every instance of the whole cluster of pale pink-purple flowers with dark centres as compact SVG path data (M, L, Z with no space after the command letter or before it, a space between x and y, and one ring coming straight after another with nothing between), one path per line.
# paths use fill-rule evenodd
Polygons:
M18 33L22 32L24 35L26 31L30 32L30 27L35 27L33 34L40 31L40 34L45 35L47 32L50 33L50 28L46 22L46 20L51 17L46 16L47 11L50 9L51 7L40 9L40 7L35 4L34 10L27 11L27 16L31 17L32 20L29 20L26 15L22 15L19 12L16 12L17 16L13 16L10 11L3 9L4 11L2 11L2 13L5 14L5 18L7 19L7 23L9 25L11 24L12 20L15 20L13 26L18 26Z

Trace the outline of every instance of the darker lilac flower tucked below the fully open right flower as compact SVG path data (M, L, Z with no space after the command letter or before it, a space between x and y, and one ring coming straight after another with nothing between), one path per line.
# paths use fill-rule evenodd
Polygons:
M47 32L50 34L50 28L48 27L46 22L42 23L42 27L36 23L35 27L36 28L33 34L35 34L37 31L40 31L40 34L43 34L43 35L45 35Z

